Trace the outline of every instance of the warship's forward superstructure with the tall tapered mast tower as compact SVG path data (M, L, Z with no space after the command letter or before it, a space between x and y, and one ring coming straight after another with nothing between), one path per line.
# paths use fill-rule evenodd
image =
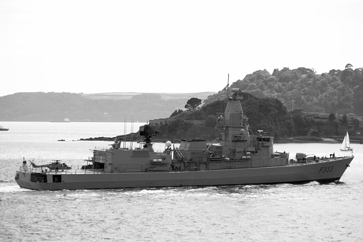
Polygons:
M273 152L273 137L263 131L250 135L247 117L240 104L242 92L232 89L224 114L218 114L219 142L210 145L206 141L182 141L177 148L176 158L180 167L183 161L196 161L200 170L220 168L252 168L265 166L286 166L290 164L289 153ZM174 162L176 163L176 162ZM178 165L177 165L178 166ZM187 165L188 166L188 165ZM190 166L188 166L190 167Z

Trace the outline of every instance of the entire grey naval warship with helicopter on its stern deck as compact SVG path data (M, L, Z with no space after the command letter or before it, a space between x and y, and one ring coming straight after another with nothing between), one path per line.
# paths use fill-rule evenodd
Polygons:
M305 183L339 181L354 156L318 158L273 149L274 137L263 131L252 134L240 99L242 91L227 95L223 114L217 114L220 137L182 140L176 148L170 141L163 151L154 151L150 125L140 127L144 137L138 148L121 147L117 140L107 149L93 150L90 164L82 169L28 167L16 171L21 188L35 190L73 190L101 188L156 188L178 186L228 186L267 183ZM43 168L46 167L44 170Z

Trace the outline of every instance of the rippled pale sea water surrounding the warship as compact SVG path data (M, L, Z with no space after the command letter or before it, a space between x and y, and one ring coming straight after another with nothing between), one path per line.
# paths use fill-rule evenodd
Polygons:
M354 159L340 181L324 185L31 191L14 180L23 157L80 167L93 148L111 142L79 139L138 131L144 123L0 124L9 128L0 131L0 241L363 241L360 144L352 144ZM281 143L274 150L329 157L339 156L339 147Z

